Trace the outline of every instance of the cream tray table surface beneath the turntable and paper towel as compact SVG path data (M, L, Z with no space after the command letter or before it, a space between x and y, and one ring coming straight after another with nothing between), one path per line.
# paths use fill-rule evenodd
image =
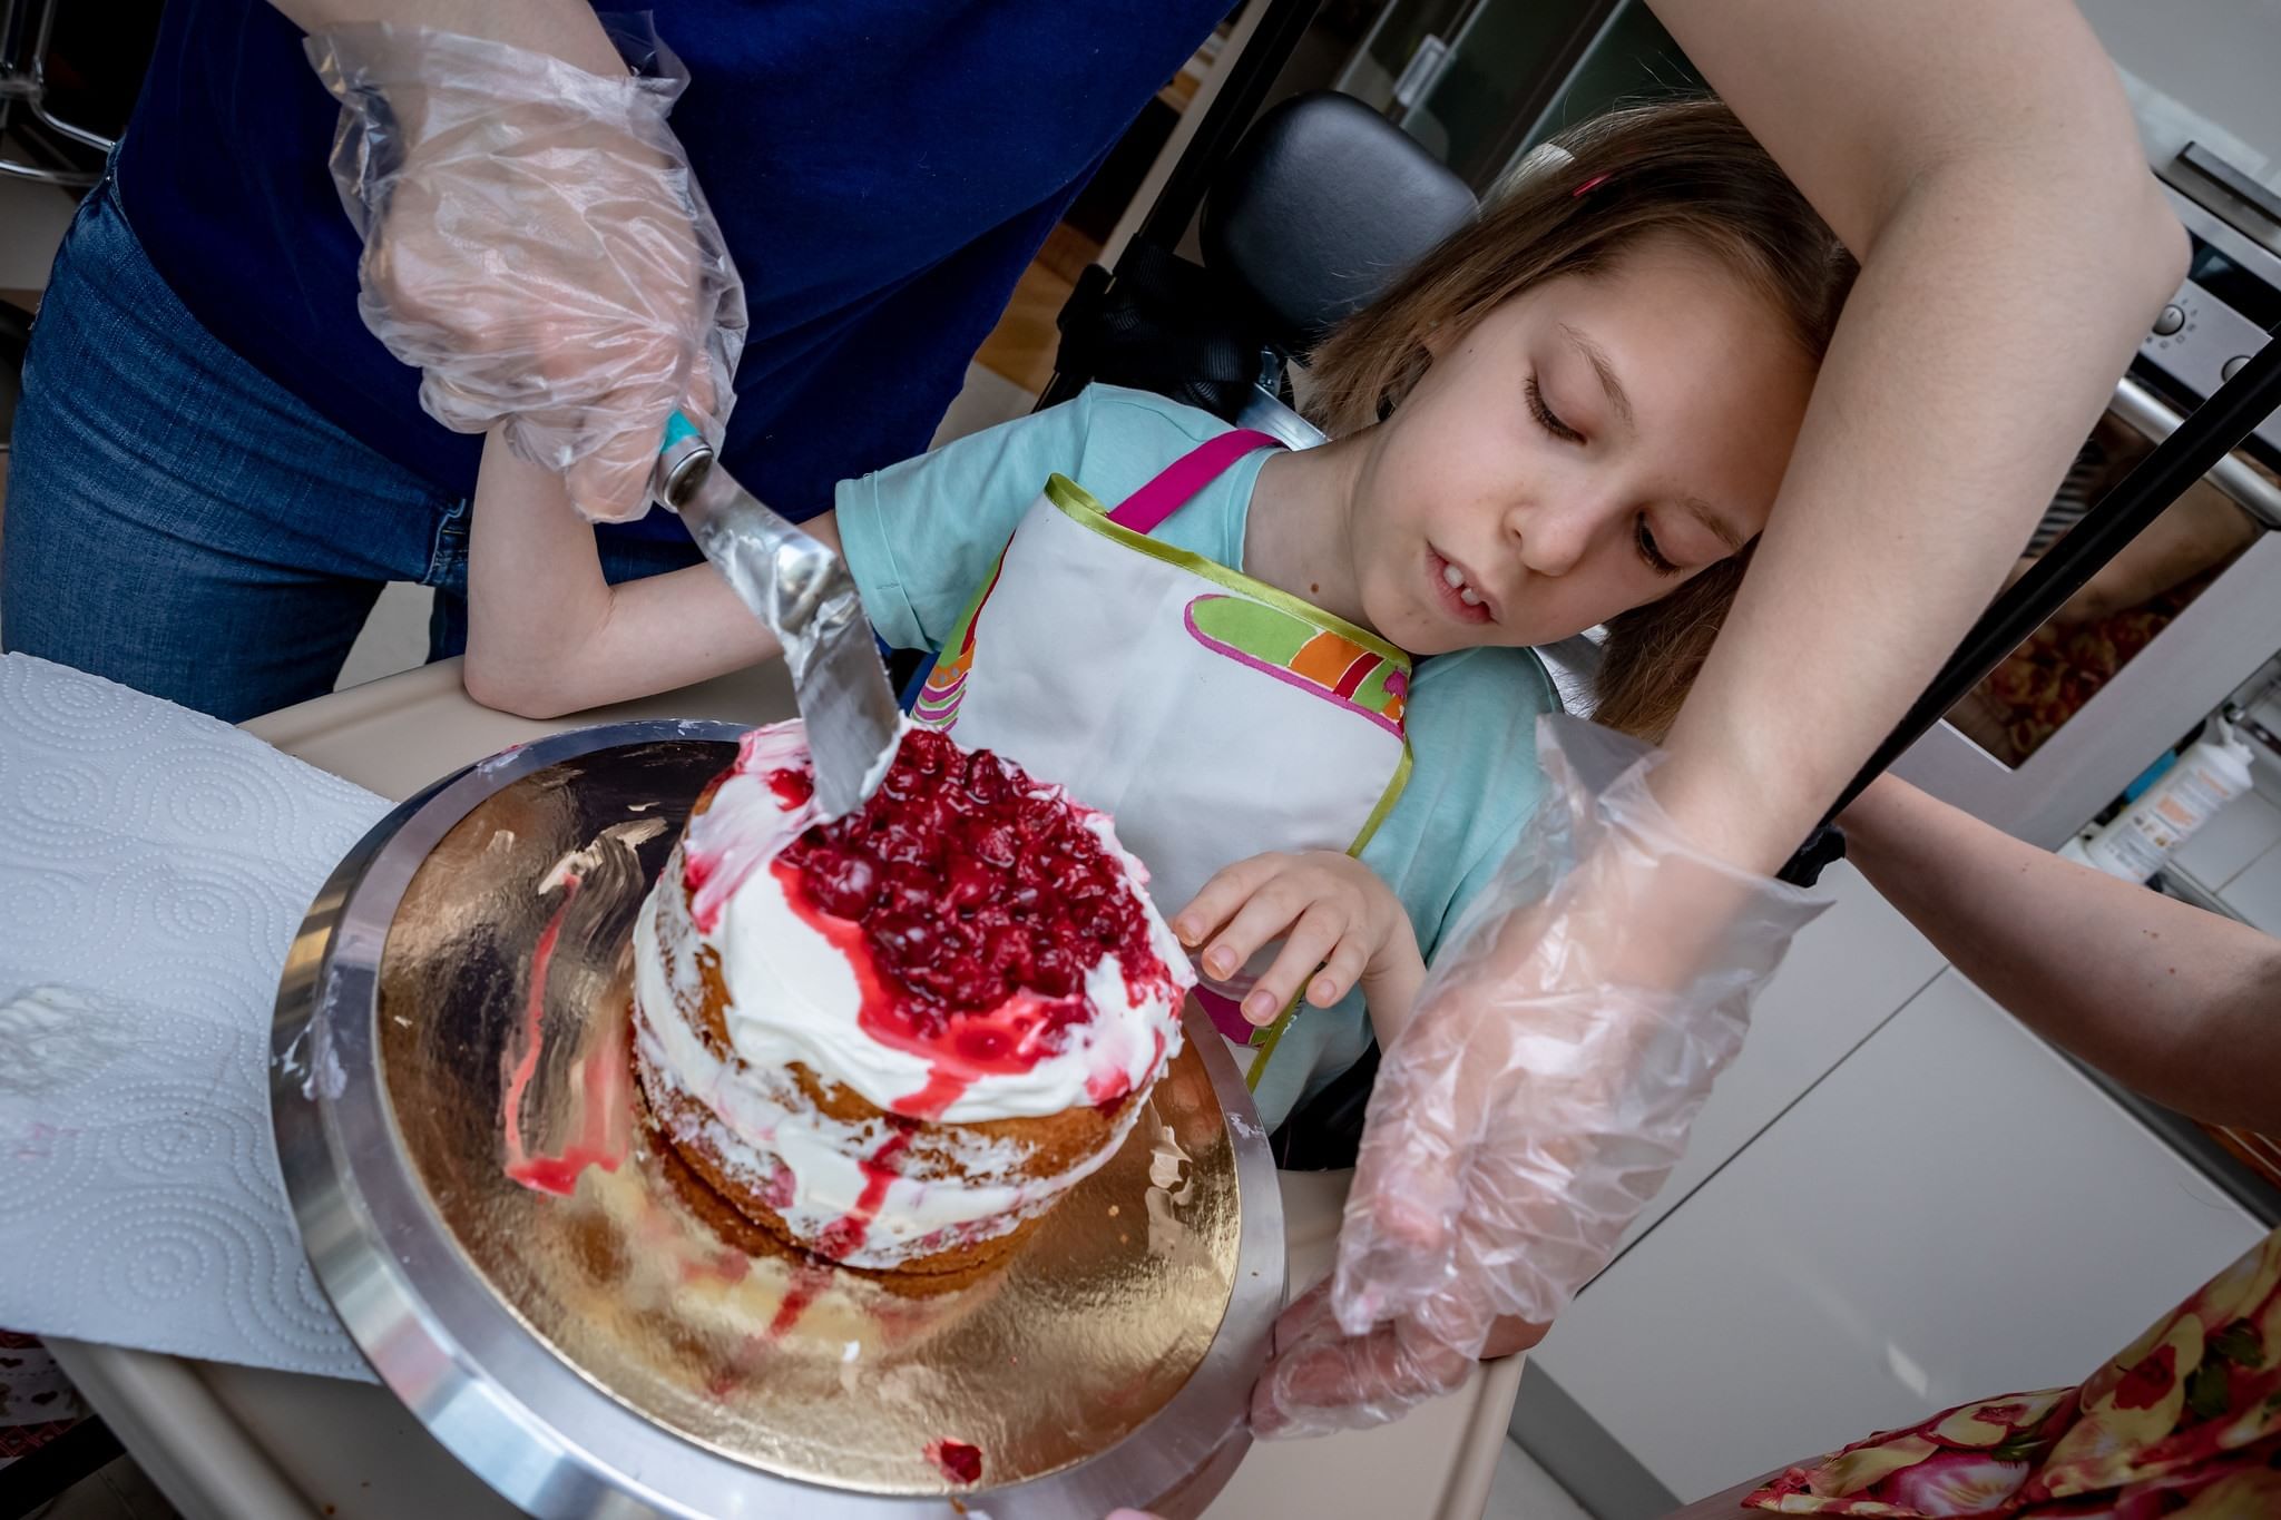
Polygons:
M506 745L586 722L766 722L789 713L792 690L769 668L570 720L529 722L470 702L458 663L447 661L255 718L246 729L395 800ZM1346 1174L1284 1174L1293 1292L1330 1269L1344 1194ZM50 1345L87 1401L189 1520L516 1513L379 1386L68 1340ZM1521 1358L1508 1358L1401 1424L1255 1445L1207 1515L1474 1520L1489 1495L1519 1376Z

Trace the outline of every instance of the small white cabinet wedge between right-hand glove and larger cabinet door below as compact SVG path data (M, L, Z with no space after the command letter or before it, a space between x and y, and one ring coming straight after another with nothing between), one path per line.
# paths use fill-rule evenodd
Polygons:
M1743 1053L1695 1119L1688 1153L1640 1212L1645 1235L1941 973L1941 953L1852 866L1823 873L1829 912L1797 932L1750 1014Z

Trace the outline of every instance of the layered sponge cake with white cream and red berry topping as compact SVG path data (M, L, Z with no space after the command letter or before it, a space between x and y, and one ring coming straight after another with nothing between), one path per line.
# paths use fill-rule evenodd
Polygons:
M1125 1142L1188 959L1104 814L906 729L819 823L798 722L746 734L634 927L634 1071L668 1169L912 1285L999 1262Z

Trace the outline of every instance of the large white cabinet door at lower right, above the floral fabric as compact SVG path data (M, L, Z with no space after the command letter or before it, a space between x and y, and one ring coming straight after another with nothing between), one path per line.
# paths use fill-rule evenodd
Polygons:
M1948 1404L2080 1381L2260 1233L1946 971L1531 1360L1697 1499Z

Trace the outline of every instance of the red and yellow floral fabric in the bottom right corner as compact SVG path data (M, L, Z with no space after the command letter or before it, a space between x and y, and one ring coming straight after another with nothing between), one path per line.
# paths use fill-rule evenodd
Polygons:
M1964 1404L1857 1440L1747 1504L1891 1520L2281 1515L2281 1231L2083 1386Z

